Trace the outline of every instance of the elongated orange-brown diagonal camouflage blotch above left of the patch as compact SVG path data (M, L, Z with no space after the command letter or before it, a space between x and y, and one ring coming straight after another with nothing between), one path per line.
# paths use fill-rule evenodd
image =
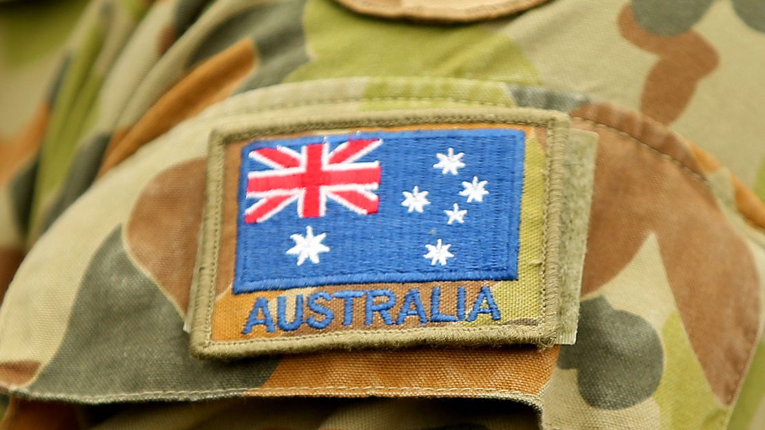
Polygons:
M195 67L157 100L122 138L109 142L99 176L174 125L225 99L256 66L252 41L243 39Z

